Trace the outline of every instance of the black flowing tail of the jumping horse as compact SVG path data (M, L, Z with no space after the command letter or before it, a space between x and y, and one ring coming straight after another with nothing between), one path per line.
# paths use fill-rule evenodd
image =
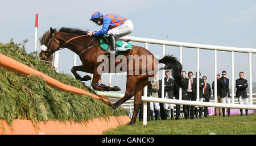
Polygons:
M181 84L183 82L183 77L181 76L182 65L176 59L176 57L172 55L166 55L163 57L163 59L159 60L159 64L160 63L165 64L165 66L163 68L160 68L159 70L171 69L172 77L174 77L175 83L177 83L179 87L181 87Z

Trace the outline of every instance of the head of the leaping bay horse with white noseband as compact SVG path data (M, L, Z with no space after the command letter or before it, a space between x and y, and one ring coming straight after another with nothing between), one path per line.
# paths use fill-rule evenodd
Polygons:
M47 31L41 38L41 52L40 56L43 60L47 60L52 53L60 49L60 41L54 37L56 29L50 28L50 31Z

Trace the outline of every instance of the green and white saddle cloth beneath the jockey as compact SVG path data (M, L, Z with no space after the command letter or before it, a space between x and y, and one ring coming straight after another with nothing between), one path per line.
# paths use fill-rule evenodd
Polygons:
M131 47L133 46L131 43L128 43L126 41L119 41L119 40L117 40L115 44L116 44L115 47L117 48L117 53L121 51L127 51L131 49ZM108 51L109 44L106 43L104 39L100 40L100 46L105 51Z

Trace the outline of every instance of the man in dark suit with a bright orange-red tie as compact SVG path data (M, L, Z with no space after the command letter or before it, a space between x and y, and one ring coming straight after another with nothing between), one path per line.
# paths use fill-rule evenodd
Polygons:
M207 77L203 77L204 80L204 88L203 88L203 97L204 97L204 102L209 102L210 101L210 95L212 95L211 90L210 90L210 84L207 82ZM204 107L204 116L205 118L209 115L208 112L208 107Z

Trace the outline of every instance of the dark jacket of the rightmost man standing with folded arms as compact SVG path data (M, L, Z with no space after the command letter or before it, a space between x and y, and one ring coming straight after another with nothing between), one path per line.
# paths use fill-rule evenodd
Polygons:
M242 85L242 86L239 86ZM247 80L244 78L239 78L236 80L236 97L242 96L242 98L247 98L247 91L246 88L248 87Z

